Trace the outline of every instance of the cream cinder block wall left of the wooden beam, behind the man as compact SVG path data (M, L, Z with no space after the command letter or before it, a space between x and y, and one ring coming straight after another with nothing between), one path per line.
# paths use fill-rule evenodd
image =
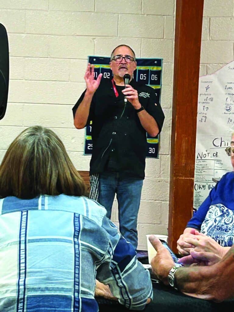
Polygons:
M119 44L137 57L163 58L161 104L166 120L159 159L147 159L138 218L145 234L167 234L173 80L174 0L1 0L0 22L9 38L7 112L0 121L0 160L25 128L40 124L60 135L77 170L89 170L84 130L71 113L85 89L88 55L110 56ZM116 202L112 219L118 223Z

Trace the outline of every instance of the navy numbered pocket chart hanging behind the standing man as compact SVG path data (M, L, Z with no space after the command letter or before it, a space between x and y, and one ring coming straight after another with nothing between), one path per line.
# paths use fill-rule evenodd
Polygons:
M102 79L111 79L110 57L89 56L89 63L94 65L95 78L101 73ZM134 80L140 81L154 88L155 95L160 103L163 59L161 58L137 58L137 68L134 71ZM92 154L92 121L86 127L84 155ZM158 158L159 135L152 138L147 133L148 158Z

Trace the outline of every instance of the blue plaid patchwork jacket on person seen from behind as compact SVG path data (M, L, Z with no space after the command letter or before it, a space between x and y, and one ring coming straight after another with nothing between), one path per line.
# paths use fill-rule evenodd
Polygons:
M142 310L152 285L133 246L86 197L0 199L0 311L98 311L95 278Z

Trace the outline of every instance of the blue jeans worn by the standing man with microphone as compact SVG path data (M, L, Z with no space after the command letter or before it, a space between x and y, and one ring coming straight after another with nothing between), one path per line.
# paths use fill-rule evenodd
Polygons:
M119 231L124 238L137 248L137 215L140 206L142 179L119 178L119 173L107 171L99 174L99 203L111 216L116 193L119 209Z

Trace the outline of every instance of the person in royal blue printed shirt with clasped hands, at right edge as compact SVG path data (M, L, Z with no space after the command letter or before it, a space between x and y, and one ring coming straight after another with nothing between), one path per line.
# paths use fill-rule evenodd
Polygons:
M226 149L234 168L234 133ZM222 258L234 244L234 172L226 173L188 222L177 241L182 255L195 251L213 252Z

